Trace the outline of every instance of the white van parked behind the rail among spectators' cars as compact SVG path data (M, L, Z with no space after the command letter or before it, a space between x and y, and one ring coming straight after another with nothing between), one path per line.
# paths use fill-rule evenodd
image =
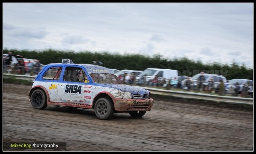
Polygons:
M153 80L156 76L160 79L178 79L178 71L162 68L147 68L140 75L136 76L136 83L141 83L146 76L146 82Z

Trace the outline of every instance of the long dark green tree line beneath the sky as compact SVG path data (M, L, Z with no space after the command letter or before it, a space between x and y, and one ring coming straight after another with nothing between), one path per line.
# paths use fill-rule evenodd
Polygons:
M78 64L92 64L92 61L101 61L102 66L118 70L131 69L141 70L146 68L164 68L178 70L179 75L193 76L201 71L211 74L224 75L230 79L250 79L253 80L253 69L243 65L238 65L235 61L231 65L219 63L203 64L201 60L191 60L186 57L168 59L163 55L145 56L141 54L118 54L109 52L90 52L90 51L62 51L62 50L14 50L4 49L3 53L8 54L12 51L14 55L21 55L23 58L39 59L44 65L49 63L61 63L62 59L72 59Z

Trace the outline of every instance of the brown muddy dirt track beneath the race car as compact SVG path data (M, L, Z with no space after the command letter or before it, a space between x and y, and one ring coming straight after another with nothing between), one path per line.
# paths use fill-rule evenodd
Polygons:
M28 102L31 86L3 86L4 144L67 142L67 150L84 151L253 150L252 110L154 100L140 119L116 113L99 120L94 110L36 110Z

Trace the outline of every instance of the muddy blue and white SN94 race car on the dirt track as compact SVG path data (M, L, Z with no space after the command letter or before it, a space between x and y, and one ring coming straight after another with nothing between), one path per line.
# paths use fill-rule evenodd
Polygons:
M117 112L139 118L154 104L148 90L125 85L108 68L72 64L72 60L45 65L28 97L35 109L45 109L47 105L94 109L103 120Z

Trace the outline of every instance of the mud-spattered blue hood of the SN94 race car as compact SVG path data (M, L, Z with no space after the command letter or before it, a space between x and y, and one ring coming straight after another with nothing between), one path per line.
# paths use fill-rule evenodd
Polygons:
M125 84L104 84L104 86L107 86L109 88L118 89L124 92L130 92L131 94L149 94L149 91L143 88L135 87L135 86L129 86Z

